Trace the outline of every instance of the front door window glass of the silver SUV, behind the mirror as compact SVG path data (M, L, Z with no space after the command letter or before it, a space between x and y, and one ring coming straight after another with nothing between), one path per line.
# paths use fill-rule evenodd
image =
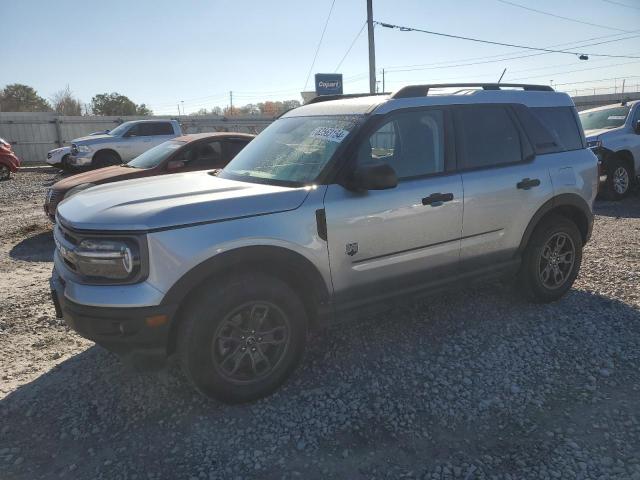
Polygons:
M444 171L444 114L442 110L393 115L358 151L358 164L388 163L398 178Z

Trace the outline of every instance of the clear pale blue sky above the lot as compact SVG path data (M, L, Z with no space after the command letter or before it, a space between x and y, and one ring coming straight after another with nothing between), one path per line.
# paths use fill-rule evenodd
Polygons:
M366 0L335 0L332 10L331 5L332 0L0 0L0 88L24 83L50 98L69 85L83 103L98 93L118 92L165 115L177 114L179 103L187 113L225 107L230 91L235 106L300 100L309 72L307 90L313 89L314 73L336 71L355 40L338 72L344 93L366 92ZM373 0L373 17L503 43L640 57L640 0ZM626 40L573 48L618 39ZM375 27L375 46L377 77L382 80L384 68L386 91L412 83L497 81L505 68L503 82L552 83L572 94L594 88L613 93L622 78L626 90L640 90L640 58L531 56L536 52L381 26ZM523 55L529 56L513 58Z

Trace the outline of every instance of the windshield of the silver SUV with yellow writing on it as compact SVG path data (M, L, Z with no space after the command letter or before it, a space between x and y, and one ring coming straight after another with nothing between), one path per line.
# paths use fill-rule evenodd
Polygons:
M276 185L313 183L361 118L341 115L276 120L219 176Z

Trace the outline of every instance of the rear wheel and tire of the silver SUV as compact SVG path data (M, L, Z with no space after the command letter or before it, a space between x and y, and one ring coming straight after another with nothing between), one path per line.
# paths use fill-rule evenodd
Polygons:
M573 285L581 262L578 227L561 215L551 215L536 227L527 244L519 273L521 290L534 302L556 301Z

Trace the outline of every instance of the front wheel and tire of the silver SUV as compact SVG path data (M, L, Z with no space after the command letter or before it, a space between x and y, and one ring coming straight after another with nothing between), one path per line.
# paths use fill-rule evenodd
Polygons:
M194 295L178 332L177 353L199 392L242 403L285 382L307 338L304 305L286 283L242 274L207 283Z

